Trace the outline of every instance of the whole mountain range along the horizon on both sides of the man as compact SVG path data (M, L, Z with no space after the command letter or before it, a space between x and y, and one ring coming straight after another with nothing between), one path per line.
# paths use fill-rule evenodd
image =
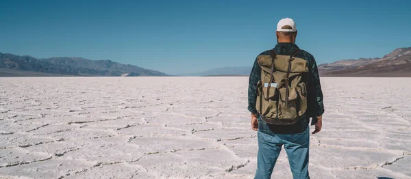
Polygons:
M345 59L318 66L321 77L411 77L411 47L395 49L384 57ZM223 67L177 76L247 76L251 66ZM38 59L0 53L0 77L20 76L91 76L139 77L169 76L163 72L111 60L81 57Z

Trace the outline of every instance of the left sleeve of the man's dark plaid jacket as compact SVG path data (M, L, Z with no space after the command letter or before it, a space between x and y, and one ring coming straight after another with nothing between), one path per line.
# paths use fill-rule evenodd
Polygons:
M249 77L249 87L248 87L248 110L251 113L258 113L256 109L256 101L257 101L257 83L261 80L261 67L257 61L254 61L253 68L251 69L250 77Z

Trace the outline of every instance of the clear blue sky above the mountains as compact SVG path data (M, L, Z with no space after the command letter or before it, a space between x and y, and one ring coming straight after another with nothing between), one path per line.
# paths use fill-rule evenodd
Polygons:
M111 59L168 74L251 66L293 18L318 64L411 46L409 1L0 1L0 52Z

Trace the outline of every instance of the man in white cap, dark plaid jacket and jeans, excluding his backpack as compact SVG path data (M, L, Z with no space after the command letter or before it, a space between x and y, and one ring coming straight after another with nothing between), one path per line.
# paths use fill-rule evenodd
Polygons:
M310 129L308 125L312 117L311 124L315 125L315 130L312 134L321 131L322 115L324 113L323 93L321 91L316 61L310 53L299 50L299 47L295 44L296 37L297 29L295 29L294 20L290 18L279 20L277 25L277 45L272 52L264 51L260 53L251 70L248 109L251 112L251 128L258 130L258 167L255 178L271 178L275 162L283 145L288 155L293 178L310 178L308 175L308 151L310 146ZM297 118L295 124L268 124L262 120L262 115L256 109L257 83L262 79L262 68L258 63L258 58L261 55L272 55L273 53L275 55L291 55L291 53L296 51L295 57L305 59L308 64L308 72L306 72L308 75L306 88L307 110ZM288 71L289 69L290 67L288 67Z

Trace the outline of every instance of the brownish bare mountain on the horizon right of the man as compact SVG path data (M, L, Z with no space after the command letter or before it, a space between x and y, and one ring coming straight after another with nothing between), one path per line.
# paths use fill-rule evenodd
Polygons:
M411 77L411 47L395 49L382 58L321 64L319 71L323 77Z

